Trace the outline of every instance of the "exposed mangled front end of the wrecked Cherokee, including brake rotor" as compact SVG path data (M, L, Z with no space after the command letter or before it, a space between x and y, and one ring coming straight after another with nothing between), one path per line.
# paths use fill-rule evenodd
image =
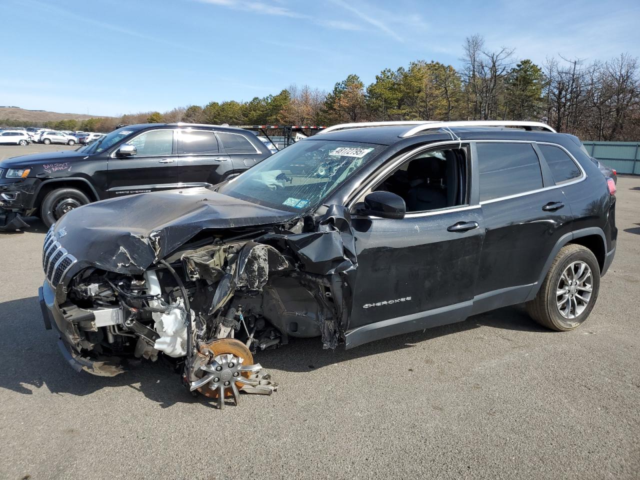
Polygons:
M99 375L124 371L121 359L168 360L191 392L220 408L227 397L239 403L239 392L271 394L277 385L255 353L290 337L320 337L324 348L344 340L346 276L355 269L347 219L331 207L257 231L202 230L164 257L154 232L141 239L156 256L145 269L121 244L114 268L94 262L56 289L67 341Z

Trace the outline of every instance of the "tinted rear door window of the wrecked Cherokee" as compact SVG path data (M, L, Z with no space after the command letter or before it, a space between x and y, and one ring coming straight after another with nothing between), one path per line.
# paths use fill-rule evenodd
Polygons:
M480 201L542 188L542 172L530 143L477 143Z

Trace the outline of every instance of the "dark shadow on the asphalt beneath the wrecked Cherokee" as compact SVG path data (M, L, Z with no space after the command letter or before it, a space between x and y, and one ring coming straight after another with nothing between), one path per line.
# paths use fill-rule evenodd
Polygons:
M0 388L31 395L35 390L45 387L53 394L85 396L102 388L130 387L139 390L161 408L176 403L215 406L205 397L191 396L180 385L179 375L165 362L140 361L130 364L128 371L115 377L98 377L72 370L58 351L55 331L45 330L35 296L0 303L0 312L3 312L4 326L3 335L0 336L0 362L3 365ZM289 345L282 348L259 352L257 361L268 370L308 372L353 358L413 348L426 340L480 326L548 332L534 323L522 308L509 307L470 317L460 323L379 340L347 351L341 346L335 350L323 350L317 338L292 339Z

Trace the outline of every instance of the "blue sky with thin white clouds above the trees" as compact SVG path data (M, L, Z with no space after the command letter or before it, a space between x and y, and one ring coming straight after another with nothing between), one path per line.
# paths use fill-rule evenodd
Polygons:
M0 105L93 115L460 65L466 36L542 63L640 56L640 2L0 0Z

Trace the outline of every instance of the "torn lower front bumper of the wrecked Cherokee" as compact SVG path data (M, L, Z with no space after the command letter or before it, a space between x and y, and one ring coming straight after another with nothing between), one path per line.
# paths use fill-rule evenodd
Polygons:
M124 369L120 365L119 359L105 358L94 360L88 356L83 356L74 347L80 340L80 335L76 325L68 322L63 316L60 308L56 304L56 293L45 280L42 287L38 289L38 300L40 300L40 310L42 311L42 321L47 330L55 330L58 333L58 348L60 353L67 360L67 364L76 372L87 372L97 376L113 377Z

